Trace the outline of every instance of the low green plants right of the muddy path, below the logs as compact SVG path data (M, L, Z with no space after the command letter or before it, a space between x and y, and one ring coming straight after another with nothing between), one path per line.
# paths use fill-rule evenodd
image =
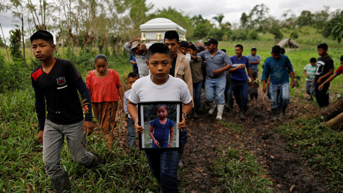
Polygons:
M343 192L343 133L326 127L323 121L322 117L299 118L281 126L281 136L333 192Z

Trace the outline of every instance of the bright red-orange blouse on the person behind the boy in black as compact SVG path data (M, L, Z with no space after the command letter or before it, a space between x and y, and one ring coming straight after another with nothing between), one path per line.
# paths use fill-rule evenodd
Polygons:
M91 94L92 102L111 102L118 101L119 94L117 85L120 85L120 77L113 69L108 69L110 72L104 78L98 78L94 71L88 72L86 76L86 84Z

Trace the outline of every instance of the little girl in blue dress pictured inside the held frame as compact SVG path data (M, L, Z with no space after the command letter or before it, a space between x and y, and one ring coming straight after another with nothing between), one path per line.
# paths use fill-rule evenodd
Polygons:
M174 138L174 122L167 119L168 108L165 104L159 104L155 107L157 117L149 122L149 136L152 139L151 147L172 147L172 139ZM154 133L152 133L154 132ZM171 136L168 144L168 136Z

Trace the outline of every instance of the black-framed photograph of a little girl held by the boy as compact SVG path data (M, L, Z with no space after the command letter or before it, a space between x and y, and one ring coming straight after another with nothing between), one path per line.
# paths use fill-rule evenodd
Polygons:
M182 101L138 102L138 121L144 128L139 134L139 147L144 149L178 149L181 132Z

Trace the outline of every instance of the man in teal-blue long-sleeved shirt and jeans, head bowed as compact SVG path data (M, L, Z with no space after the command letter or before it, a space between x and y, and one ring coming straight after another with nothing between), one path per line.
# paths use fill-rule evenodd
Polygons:
M268 58L263 67L262 81L263 81L263 92L267 92L266 82L268 76L270 76L270 103L271 110L273 113L272 121L277 120L277 108L279 106L277 90L281 90L282 105L280 110L280 118L285 118L285 111L289 103L290 98L290 80L289 75L291 75L291 87L294 87L294 73L292 68L292 63L290 59L281 54L280 46L274 46L271 49L271 57Z

